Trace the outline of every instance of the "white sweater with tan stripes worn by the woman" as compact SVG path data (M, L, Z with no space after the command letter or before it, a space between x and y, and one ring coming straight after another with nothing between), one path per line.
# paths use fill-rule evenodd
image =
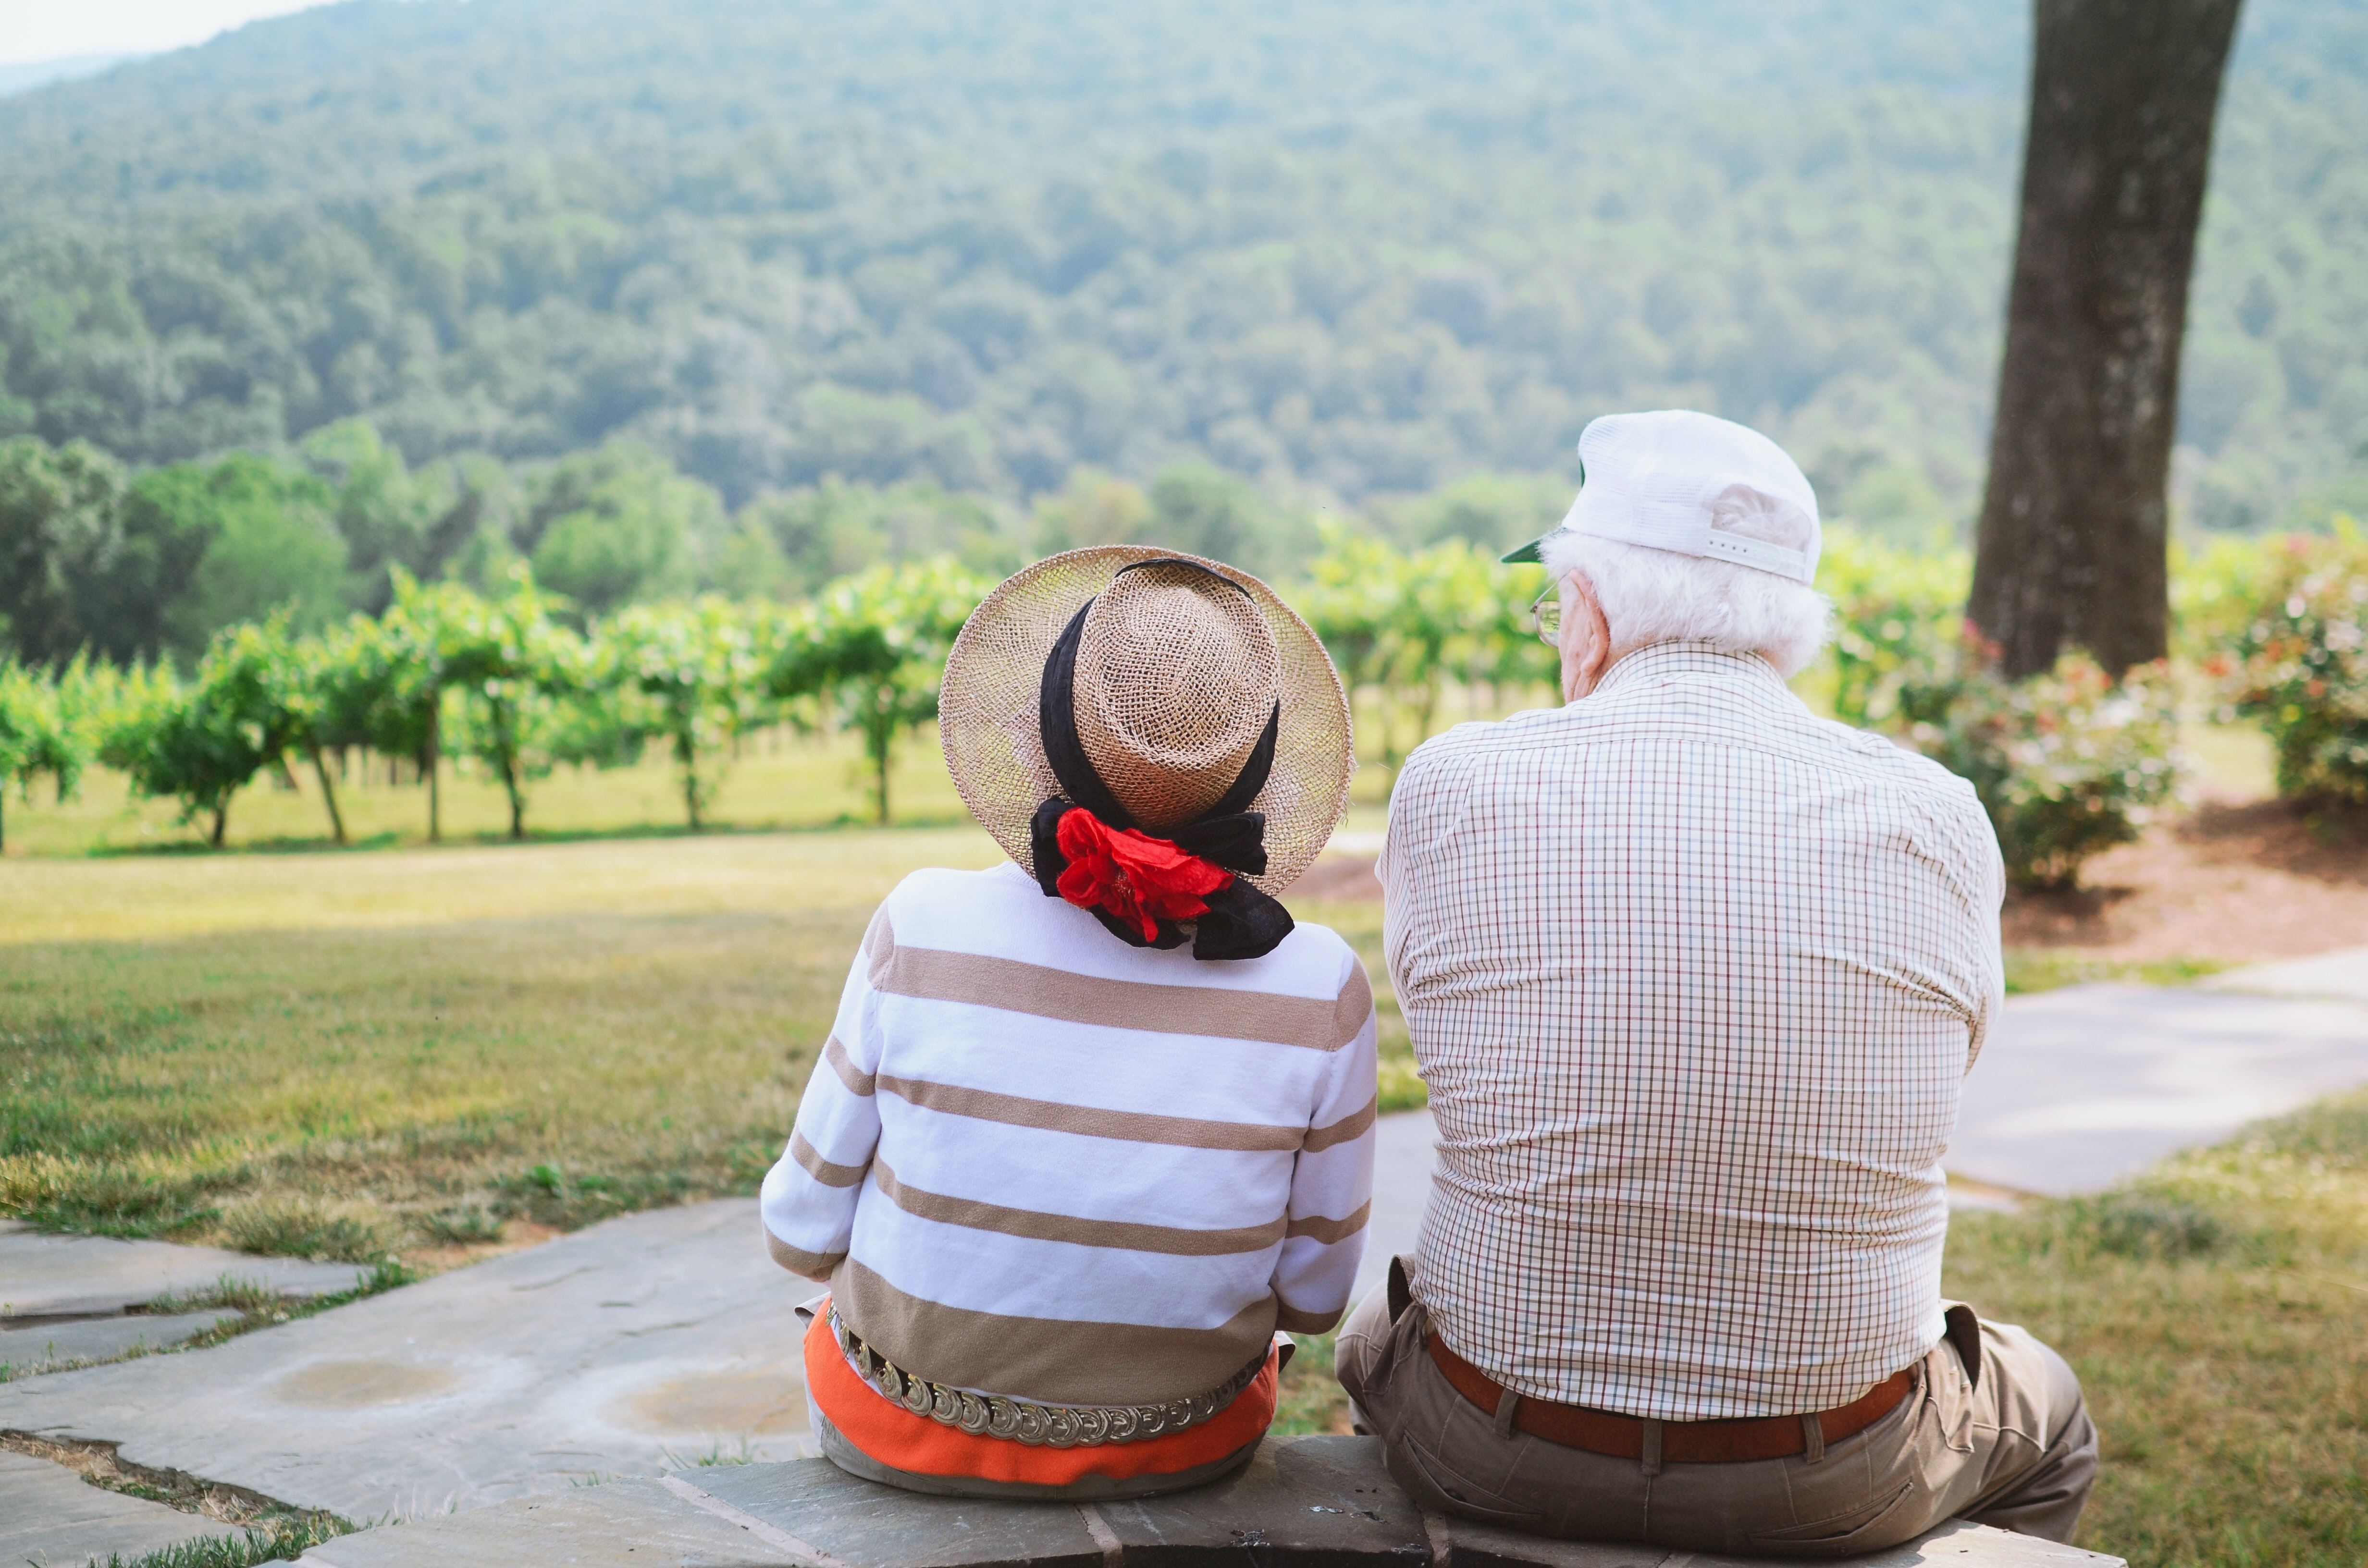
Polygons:
M1338 1322L1373 1108L1373 992L1324 926L1203 964L1009 862L914 872L864 933L765 1236L919 1376L1177 1400Z

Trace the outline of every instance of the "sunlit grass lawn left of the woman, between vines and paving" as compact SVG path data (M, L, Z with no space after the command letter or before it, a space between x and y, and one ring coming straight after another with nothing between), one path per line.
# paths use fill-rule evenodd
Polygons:
M369 1260L751 1191L976 829L0 865L0 1210Z

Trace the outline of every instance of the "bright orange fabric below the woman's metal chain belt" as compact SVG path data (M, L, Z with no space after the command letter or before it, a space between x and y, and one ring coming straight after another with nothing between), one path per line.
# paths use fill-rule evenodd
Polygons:
M1267 1364L1250 1386L1201 1426L1141 1442L1030 1447L1016 1438L973 1435L959 1426L916 1416L862 1381L838 1348L826 1310L817 1310L805 1331L805 1388L815 1395L822 1414L864 1457L916 1476L1016 1480L1047 1487L1070 1485L1087 1476L1106 1476L1108 1480L1175 1476L1215 1464L1265 1435L1274 1421L1274 1350L1267 1350Z

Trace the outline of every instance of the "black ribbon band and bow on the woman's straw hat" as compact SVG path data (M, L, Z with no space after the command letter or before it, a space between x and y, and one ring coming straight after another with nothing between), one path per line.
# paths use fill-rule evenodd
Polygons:
M1193 571L1208 571L1198 561L1137 561L1125 571L1134 571L1137 566L1191 566ZM1210 576L1236 592L1248 592L1231 578ZM1085 744L1077 739L1077 644L1085 637L1085 616L1092 609L1094 602L1087 599L1058 642L1051 644L1051 654L1044 658L1044 685L1037 692L1037 734L1044 741L1044 760L1051 765L1051 777L1061 782L1061 796L1054 796L1037 805L1035 820L1028 824L1037 886L1044 888L1044 898L1061 898L1058 879L1068 869L1068 855L1061 853L1058 834L1061 817L1070 810L1082 808L1108 829L1132 829L1151 838L1160 836L1118 803L1118 796L1094 772L1094 760L1085 756ZM1186 855L1198 855L1234 872L1231 883L1203 900L1208 902L1208 912L1193 921L1191 955L1196 959L1255 959L1274 952L1291 936L1291 910L1246 881L1267 869L1267 817L1250 810L1250 801L1257 798L1257 791L1267 786L1267 775L1274 772L1274 741L1281 732L1281 720L1283 706L1274 703L1274 711L1267 715L1267 730L1257 737L1257 746L1250 751L1250 760L1241 765L1241 775L1231 789L1205 812L1165 834ZM1158 921L1158 938L1146 943L1141 931L1111 912L1089 910L1089 914L1130 947L1182 947L1186 940L1177 921Z

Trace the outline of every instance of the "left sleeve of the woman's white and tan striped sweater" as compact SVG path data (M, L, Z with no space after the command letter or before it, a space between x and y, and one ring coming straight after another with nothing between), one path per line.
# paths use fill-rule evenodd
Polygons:
M871 917L864 947L855 955L838 1016L822 1047L822 1061L805 1080L789 1149L765 1172L758 1213L772 1260L807 1279L829 1279L848 1255L855 1203L881 1142L874 1085L881 1066L879 992L871 990L871 955L895 943L888 907Z

